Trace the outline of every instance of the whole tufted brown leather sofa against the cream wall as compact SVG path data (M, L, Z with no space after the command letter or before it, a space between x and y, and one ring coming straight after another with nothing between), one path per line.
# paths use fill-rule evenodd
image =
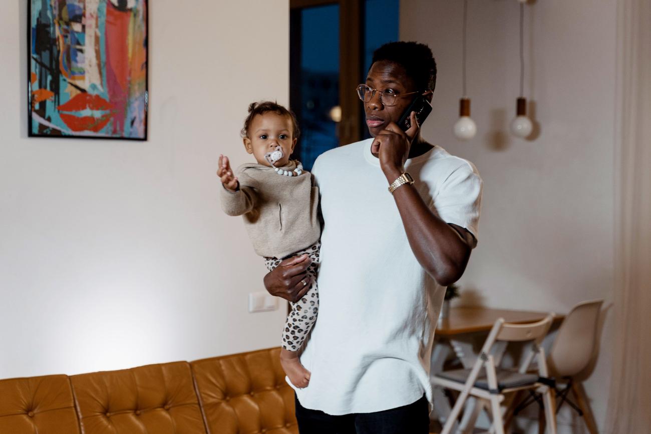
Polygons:
M0 380L0 434L298 434L279 351Z

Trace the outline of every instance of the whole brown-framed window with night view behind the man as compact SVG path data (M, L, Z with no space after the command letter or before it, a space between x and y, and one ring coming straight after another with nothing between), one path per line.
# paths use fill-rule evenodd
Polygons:
M355 87L373 51L398 40L398 0L290 0L290 106L307 170L322 152L369 137Z

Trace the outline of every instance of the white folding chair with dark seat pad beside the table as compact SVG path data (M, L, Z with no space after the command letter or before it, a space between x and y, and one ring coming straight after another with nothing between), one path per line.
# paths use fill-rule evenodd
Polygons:
M542 340L552 320L553 314L549 314L541 321L526 324L506 323L502 318L497 319L473 368L443 371L432 377L432 384L460 392L441 434L450 434L465 401L470 396L490 403L492 431L504 434L501 403L505 400L506 394L528 389L542 394L549 434L556 434L554 397L547 380L549 372L542 347ZM500 344L501 342L532 342L531 350L523 358L518 370L496 366L493 349L495 346L503 345ZM534 359L537 363L536 373L530 373L528 370Z

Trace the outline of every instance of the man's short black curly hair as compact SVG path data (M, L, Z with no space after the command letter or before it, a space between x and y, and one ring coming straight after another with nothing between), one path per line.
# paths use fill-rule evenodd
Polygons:
M413 79L417 90L436 87L436 61L432 50L419 42L389 42L373 52L373 61L394 62L405 68L407 75Z

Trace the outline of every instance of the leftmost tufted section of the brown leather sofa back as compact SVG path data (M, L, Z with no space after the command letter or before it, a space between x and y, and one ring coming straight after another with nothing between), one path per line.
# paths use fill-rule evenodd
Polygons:
M78 434L68 376L0 380L0 433Z

